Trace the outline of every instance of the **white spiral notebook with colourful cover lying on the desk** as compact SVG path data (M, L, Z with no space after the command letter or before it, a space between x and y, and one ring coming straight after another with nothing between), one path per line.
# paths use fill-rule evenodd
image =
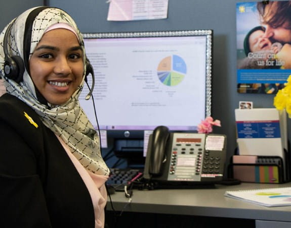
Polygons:
M291 206L291 187L226 191L224 196L266 207Z

